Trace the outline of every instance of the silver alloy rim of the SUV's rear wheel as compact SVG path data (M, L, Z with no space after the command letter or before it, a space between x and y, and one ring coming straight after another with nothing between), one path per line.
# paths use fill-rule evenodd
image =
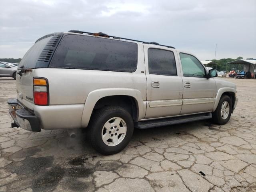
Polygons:
M126 132L126 122L120 117L113 117L104 124L101 138L104 144L116 146L124 140Z

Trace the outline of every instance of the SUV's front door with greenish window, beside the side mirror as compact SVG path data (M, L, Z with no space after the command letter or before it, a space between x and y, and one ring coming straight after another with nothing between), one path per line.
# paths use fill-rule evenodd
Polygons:
M210 112L216 97L214 78L206 78L206 69L190 54L180 54L183 80L183 105L181 114Z

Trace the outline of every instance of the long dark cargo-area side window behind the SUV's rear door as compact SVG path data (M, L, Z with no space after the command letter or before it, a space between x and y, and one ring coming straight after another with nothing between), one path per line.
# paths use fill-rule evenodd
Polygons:
M137 58L136 43L66 35L54 54L51 67L134 72Z

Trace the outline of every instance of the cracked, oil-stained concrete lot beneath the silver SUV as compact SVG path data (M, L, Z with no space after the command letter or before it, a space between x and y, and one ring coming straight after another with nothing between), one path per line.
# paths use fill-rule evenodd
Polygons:
M226 125L134 130L122 152L102 156L82 134L11 128L16 82L0 78L0 191L256 192L256 81L225 79L239 98Z

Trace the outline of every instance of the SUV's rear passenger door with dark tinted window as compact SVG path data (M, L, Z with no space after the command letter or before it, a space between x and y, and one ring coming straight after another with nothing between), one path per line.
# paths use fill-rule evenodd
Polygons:
M144 44L147 109L145 119L180 114L182 78L175 49Z

